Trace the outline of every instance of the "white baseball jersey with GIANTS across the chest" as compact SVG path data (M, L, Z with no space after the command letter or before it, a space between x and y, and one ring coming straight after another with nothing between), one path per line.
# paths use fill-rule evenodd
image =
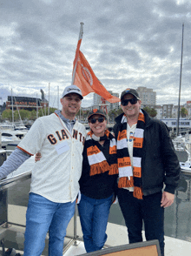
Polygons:
M73 202L79 191L85 127L76 121L70 134L56 113L38 118L17 146L42 158L32 170L30 192L56 203Z

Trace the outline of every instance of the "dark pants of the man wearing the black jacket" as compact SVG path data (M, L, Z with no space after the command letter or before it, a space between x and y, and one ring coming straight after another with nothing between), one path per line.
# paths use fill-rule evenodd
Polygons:
M118 190L119 205L128 227L129 243L142 242L142 221L147 240L158 239L161 255L164 255L164 208L161 207L161 192L135 199L133 192Z

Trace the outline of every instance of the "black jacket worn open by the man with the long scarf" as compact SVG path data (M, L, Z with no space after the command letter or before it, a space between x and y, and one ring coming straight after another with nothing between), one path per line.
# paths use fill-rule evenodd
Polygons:
M145 131L142 146L142 192L145 196L165 191L175 193L181 167L175 148L169 137L168 127L160 120L150 118L146 111ZM121 126L123 113L115 118L115 138Z

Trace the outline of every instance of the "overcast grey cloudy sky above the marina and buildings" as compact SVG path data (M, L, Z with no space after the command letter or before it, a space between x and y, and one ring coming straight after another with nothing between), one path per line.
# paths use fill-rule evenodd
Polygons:
M107 90L146 86L157 104L191 100L190 0L0 0L0 104L14 96L57 107L71 84L83 22L81 51ZM50 85L50 86L49 86ZM93 94L82 106L92 104Z

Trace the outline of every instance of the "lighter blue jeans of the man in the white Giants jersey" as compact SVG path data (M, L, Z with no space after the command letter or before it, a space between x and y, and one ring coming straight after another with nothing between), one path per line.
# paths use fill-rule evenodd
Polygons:
M75 205L75 201L59 204L30 193L23 255L42 255L49 231L49 256L63 256L63 240L69 220L74 215Z

